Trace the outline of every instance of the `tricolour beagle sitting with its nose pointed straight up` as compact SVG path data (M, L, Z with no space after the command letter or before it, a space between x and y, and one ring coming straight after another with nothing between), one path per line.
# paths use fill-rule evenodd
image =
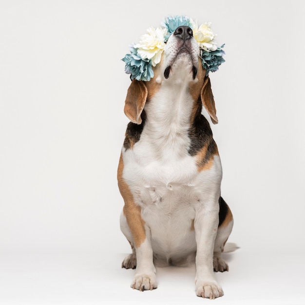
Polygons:
M185 266L195 259L197 296L223 296L214 271L228 271L222 258L233 226L220 196L222 167L210 124L218 122L210 78L200 63L188 26L165 45L150 81L132 80L124 112L131 122L117 179L125 205L120 228L135 268L133 289L157 287L155 266Z

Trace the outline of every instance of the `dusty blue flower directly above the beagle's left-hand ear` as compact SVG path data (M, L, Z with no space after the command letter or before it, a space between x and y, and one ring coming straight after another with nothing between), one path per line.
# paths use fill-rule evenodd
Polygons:
M131 74L131 79L149 81L153 77L152 60L141 58L133 45L129 49L130 54L122 58L125 62L125 73Z

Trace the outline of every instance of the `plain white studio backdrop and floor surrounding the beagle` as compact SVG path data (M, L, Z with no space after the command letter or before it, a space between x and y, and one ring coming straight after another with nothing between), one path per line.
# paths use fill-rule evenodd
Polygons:
M227 302L305 304L303 1L0 0L3 304L128 304L144 295L169 303L171 283L179 300L186 281L186 300L200 300L193 269L158 270L166 289L140 294L128 288L133 271L119 268L130 251L116 182L130 84L121 58L175 14L212 22L226 43L226 62L210 78L222 195L235 219L229 241L241 247L228 257L235 273L217 275Z

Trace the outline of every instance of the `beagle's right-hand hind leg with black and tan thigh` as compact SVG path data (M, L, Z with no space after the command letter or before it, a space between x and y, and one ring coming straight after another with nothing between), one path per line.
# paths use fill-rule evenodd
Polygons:
M214 271L229 271L229 266L221 257L225 244L233 228L233 216L229 206L222 197L219 198L219 226L214 243Z

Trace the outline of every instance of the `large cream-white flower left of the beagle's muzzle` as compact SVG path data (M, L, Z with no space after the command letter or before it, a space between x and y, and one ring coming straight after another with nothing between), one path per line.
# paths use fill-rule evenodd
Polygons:
M142 58L152 59L154 67L161 60L161 54L165 47L164 36L167 34L167 29L150 27L147 34L140 38L140 42L134 47L138 49L138 54Z

